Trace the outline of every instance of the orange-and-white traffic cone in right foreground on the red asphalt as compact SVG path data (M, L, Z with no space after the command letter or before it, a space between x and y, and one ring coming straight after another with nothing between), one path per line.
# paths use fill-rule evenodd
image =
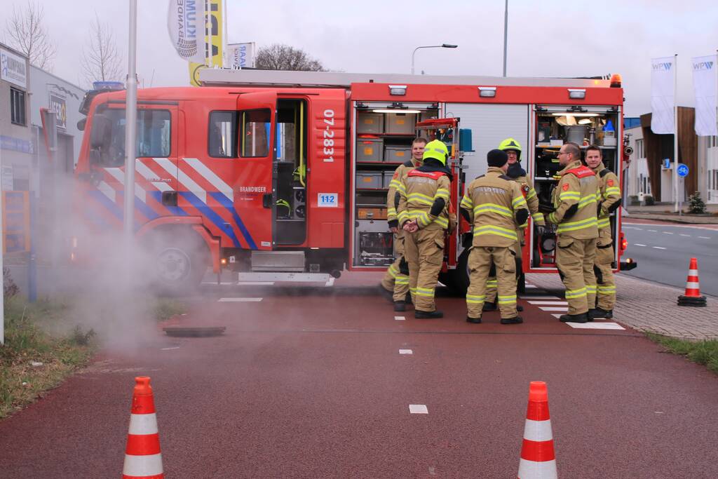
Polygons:
M523 427L518 479L556 479L554 435L549 417L549 394L546 383L531 381L528 386L528 410Z

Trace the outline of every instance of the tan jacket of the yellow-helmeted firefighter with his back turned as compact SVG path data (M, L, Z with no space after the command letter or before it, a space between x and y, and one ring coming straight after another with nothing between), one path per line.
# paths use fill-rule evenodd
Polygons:
M399 193L397 217L399 226L406 221L416 220L419 229L434 230L449 228L449 187L451 180L442 171L419 171L412 169L401 179L396 190ZM437 200L444 200L440 211L435 210Z

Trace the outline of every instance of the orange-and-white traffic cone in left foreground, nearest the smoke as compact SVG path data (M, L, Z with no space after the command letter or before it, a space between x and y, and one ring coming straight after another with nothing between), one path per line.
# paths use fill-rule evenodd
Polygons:
M164 479L154 396L146 376L135 378L122 478Z

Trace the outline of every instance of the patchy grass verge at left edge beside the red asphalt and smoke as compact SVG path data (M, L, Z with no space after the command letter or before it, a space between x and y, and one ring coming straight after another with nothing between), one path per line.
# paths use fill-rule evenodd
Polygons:
M22 409L90 360L95 332L67 325L66 304L5 299L5 344L0 346L0 418ZM62 334L65 325L65 334ZM50 327L52 326L52 327ZM48 330L53 330L50 334ZM70 331L69 333L67 331Z

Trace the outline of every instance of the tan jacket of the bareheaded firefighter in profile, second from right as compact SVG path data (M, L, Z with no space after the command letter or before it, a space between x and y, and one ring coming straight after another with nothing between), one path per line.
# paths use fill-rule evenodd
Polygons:
M581 162L567 164L553 193L556 210L546 218L558 225L559 236L576 239L598 238L597 201L600 197L596 175Z

